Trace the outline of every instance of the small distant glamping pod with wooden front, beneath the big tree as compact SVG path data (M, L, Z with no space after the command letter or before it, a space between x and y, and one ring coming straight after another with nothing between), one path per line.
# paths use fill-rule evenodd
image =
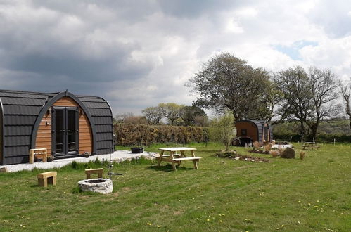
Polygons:
M273 132L271 125L262 120L241 120L236 122L236 135L241 140L241 146L245 143L258 141L261 146L271 143Z

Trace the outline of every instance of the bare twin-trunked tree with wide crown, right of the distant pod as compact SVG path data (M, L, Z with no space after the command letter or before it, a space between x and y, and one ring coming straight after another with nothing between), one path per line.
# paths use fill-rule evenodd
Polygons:
M284 117L300 121L301 139L305 136L305 125L316 138L317 129L325 117L333 117L338 106L337 78L329 70L310 67L306 72L302 67L289 68L278 72L276 83L283 93L280 113Z

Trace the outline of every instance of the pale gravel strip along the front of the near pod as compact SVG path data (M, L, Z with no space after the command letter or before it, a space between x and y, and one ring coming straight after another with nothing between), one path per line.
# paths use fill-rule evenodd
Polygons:
M111 154L111 160L116 160L117 162L122 162L125 160L129 160L132 158L136 157L146 157L148 159L155 159L155 155L157 153L139 153L139 154L134 154L131 153L128 150L116 150L113 154ZM53 160L53 162L34 162L34 164L18 164L18 165L0 165L1 167L6 167L8 172L18 172L22 170L32 170L34 167L37 167L38 169L52 169L52 168L58 168L58 167L63 167L65 165L70 164L71 162L89 162L90 160L94 161L96 159L98 160L108 160L110 154L106 155L92 155L91 157L84 158L84 157L76 157L76 158L68 158L68 159L59 159L59 160Z

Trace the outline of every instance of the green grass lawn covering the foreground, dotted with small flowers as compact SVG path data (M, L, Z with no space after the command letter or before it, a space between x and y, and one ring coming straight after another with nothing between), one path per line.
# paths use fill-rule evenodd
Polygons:
M203 157L199 169L124 162L110 195L77 188L95 163L57 169L48 188L37 186L42 170L0 174L0 231L351 231L349 144L322 145L305 160L254 154L270 162L212 157L215 143L187 146Z

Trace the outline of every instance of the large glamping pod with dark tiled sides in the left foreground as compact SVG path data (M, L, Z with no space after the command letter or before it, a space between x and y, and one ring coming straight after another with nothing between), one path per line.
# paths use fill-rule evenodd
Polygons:
M28 162L33 148L55 158L107 154L112 122L110 105L97 96L0 90L0 165Z

